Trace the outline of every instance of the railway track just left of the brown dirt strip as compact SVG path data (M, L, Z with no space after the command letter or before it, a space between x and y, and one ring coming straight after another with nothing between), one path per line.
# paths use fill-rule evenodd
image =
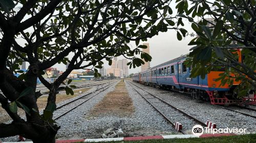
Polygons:
M106 85L106 86L104 86L104 87L101 87L101 88L99 88L99 89L97 89L97 90L95 90L95 91L93 91L93 92L87 93L87 94L85 94L84 96L81 96L81 97L79 97L79 98L77 98L77 99L75 99L75 100L72 100L72 101L70 101L70 102L68 102L68 103L66 103L66 104L63 104L63 105L61 105L61 106L58 106L58 107L56 108L56 111L57 111L57 110L60 110L61 108L65 107L65 106L67 106L67 105L69 105L69 104L71 104L71 103L74 103L74 102L76 102L76 101L78 101L78 100L84 99L85 97L88 97L90 94L92 94L92 93L94 93L94 92L97 92L94 96L92 96L92 97L90 97L90 98L88 98L88 99L86 99L86 100L84 100L84 101L81 101L81 102L77 103L77 105L75 105L74 107L68 108L67 110L65 110L65 111L63 111L62 113L58 114L57 116L54 117L54 120L58 120L58 118L60 118L60 117L62 117L62 116L64 116L64 115L66 115L67 113L69 113L69 112L71 112L72 110L76 109L76 108L79 107L80 105L82 105L82 104L88 102L90 99L96 97L99 93L105 91L106 89L108 89L109 87L111 87L111 86L112 86L114 83L116 83L116 82L117 82L117 81L114 81L114 82L110 83L109 85ZM102 89L102 90L101 90L101 89ZM101 90L101 91L100 91L100 90Z

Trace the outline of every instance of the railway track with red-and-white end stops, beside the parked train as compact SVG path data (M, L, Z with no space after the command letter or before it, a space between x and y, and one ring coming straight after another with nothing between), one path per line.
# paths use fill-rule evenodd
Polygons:
M129 83L129 85L148 103L150 104L157 112L159 112L164 118L165 120L171 124L174 128L175 128L175 122L179 122L182 125L184 125L184 127L186 129L192 129L192 127L194 125L200 124L204 127L206 127L207 125L205 123L203 123L202 121L198 120L196 117L191 116L187 113L185 113L184 111L176 108L175 106L165 102L164 100L156 97L154 94L140 88L139 86L131 83L131 82L127 82ZM140 93L135 87L139 88L140 90L142 90L143 92L146 92L146 94ZM152 98L153 97L153 98ZM156 107L155 104L161 105ZM167 113L166 113L167 112ZM172 114L170 114L172 113ZM180 115L182 114L182 115ZM176 119L174 119L174 116L176 116ZM170 119L172 118L172 119ZM173 121L173 120L177 120L177 121ZM185 122L185 123L184 123ZM197 123L197 124L196 124ZM187 125L189 124L189 125ZM189 127L188 127L189 126ZM180 130L181 133L186 134L185 130Z

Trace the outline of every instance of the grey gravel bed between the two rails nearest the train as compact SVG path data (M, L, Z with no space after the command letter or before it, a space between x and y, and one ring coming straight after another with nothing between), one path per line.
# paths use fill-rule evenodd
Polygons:
M170 107L169 105L163 103L161 100L151 96L147 92L143 91L142 89L130 84L133 88L135 88L137 91L139 91L140 94L144 98L146 98L149 102L151 102L158 110L160 110L164 115L166 115L169 120L173 123L179 122L182 124L182 129L186 131L187 133L191 133L191 129L193 126L197 125L198 123L194 122L193 119L190 119L186 116L184 116L179 111L175 110L173 107Z

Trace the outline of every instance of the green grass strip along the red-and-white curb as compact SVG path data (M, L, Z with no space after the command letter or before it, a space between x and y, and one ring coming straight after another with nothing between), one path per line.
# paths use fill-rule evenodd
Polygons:
M173 139L150 139L150 140L139 140L139 141L108 141L108 143L121 143L121 142L132 142L132 143L198 143L198 142L207 142L207 143L252 143L256 142L256 134L247 134L247 135L234 135L234 136L221 136L221 137L209 137L209 138L173 138ZM80 142L79 142L80 143Z

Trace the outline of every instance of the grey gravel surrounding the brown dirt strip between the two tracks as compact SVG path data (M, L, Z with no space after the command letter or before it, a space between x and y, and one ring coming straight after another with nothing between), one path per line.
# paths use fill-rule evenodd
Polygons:
M133 100L135 112L131 116L120 117L104 114L101 116L90 116L89 112L106 93L113 91L114 86L93 98L91 102L78 107L72 113L57 120L62 126L58 138L100 138L100 135L109 128L120 127L124 134L121 136L177 134L172 126L158 114L144 99L126 84L129 96Z

